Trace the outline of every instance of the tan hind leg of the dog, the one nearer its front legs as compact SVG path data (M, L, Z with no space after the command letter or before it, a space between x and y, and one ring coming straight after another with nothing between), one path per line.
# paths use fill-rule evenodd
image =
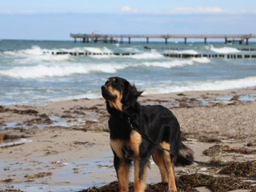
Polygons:
M165 158L162 150L156 150L152 155L155 164L158 166L162 178L162 182L168 182Z

